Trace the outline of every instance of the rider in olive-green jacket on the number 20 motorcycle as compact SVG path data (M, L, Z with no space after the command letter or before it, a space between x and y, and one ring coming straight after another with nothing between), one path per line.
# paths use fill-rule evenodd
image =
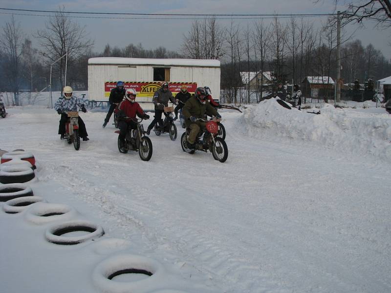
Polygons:
M206 102L207 95L204 87L197 87L195 95L183 107L182 114L186 118L186 127L190 128L190 134L187 139L187 146L189 148L195 148L195 140L197 139L198 133L200 130L205 130L206 122L199 121L197 120L198 118L204 119L205 114L221 118L217 110L210 103Z

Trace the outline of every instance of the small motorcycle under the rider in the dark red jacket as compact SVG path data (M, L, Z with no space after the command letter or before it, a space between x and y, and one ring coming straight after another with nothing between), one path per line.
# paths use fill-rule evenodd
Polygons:
M130 119L124 117L124 119ZM143 119L134 119L137 122L137 129L128 128L125 137L125 147L121 147L119 135L118 135L118 150L120 153L126 154L129 150L138 151L140 159L143 161L149 161L152 157L152 141L148 136L145 136L144 126L141 124ZM120 130L116 130L115 133L120 133Z

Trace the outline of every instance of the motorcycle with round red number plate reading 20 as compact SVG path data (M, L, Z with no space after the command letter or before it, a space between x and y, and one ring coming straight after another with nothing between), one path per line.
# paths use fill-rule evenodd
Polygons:
M213 158L221 163L224 163L228 158L228 147L225 141L218 137L218 125L219 119L197 119L198 121L206 122L205 130L200 131L196 139L196 149L212 153ZM189 148L187 146L187 138L190 134L190 128L186 128L186 131L182 134L180 144L182 150L189 154L194 154L196 149Z

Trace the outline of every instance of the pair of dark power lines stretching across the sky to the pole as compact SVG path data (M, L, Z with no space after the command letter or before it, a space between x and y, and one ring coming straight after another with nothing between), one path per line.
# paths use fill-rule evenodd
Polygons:
M188 16L205 18L209 17L305 17L305 16L333 16L335 13L309 13L309 14L182 14L182 13L125 13L125 12L81 12L81 11L54 11L54 10L31 10L31 9L12 9L12 8L0 8L0 10L11 10L11 11L25 11L25 12L42 12L42 13L66 13L66 14L102 14L102 15L139 15L139 16Z

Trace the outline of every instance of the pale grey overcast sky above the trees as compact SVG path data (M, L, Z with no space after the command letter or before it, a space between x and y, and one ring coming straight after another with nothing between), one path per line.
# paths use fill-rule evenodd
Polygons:
M344 1L341 1L342 3ZM306 14L333 13L334 0L0 0L0 8L57 10L65 6L66 11L82 12L125 12L125 13L185 13L197 14ZM341 11L345 8L338 7ZM10 13L10 11L3 11ZM15 12L28 13L28 12ZM38 13L36 13L38 14ZM44 13L43 13L44 14ZM47 13L46 13L47 14ZM9 21L10 15L0 14L0 25ZM27 36L32 36L37 29L43 29L47 17L15 15L21 22ZM324 17L310 18L318 27ZM192 20L146 20L146 19L74 19L86 26L90 39L94 40L94 51L101 52L109 43L112 46L124 47L130 42L142 43L145 48L165 46L170 50L179 50L183 34L191 28ZM270 20L265 20L270 21ZM243 27L254 20L236 20ZM219 20L225 26L230 20ZM360 39L363 45L372 43L381 49L386 58L391 59L391 29L379 30L371 21L365 22L366 28L356 31L353 39ZM353 32L356 25L348 27ZM33 39L31 37L31 39Z

